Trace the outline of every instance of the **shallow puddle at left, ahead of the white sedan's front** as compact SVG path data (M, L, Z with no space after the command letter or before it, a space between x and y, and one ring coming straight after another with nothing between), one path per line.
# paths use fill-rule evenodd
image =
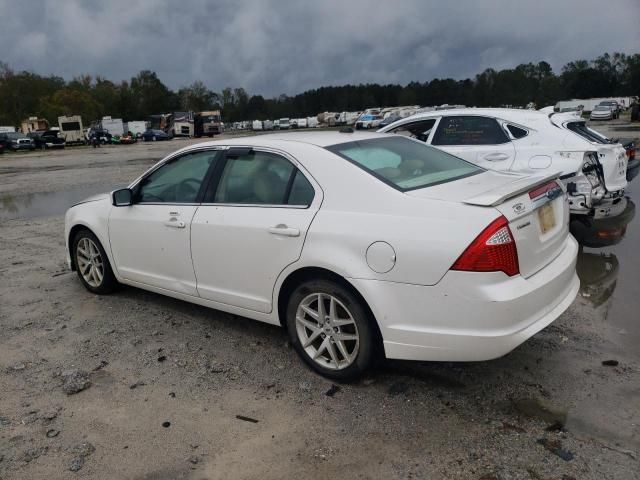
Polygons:
M115 188L117 187L111 185L85 185L60 192L0 195L0 220L62 215L74 203Z

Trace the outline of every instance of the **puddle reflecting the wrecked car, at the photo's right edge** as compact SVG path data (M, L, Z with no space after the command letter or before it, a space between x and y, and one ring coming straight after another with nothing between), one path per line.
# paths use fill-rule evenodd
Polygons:
M639 204L640 187L636 183L629 185L627 195ZM583 248L577 267L583 305L592 310L594 318L611 327L612 341L620 350L637 357L640 357L639 223L638 216L633 218L617 245Z

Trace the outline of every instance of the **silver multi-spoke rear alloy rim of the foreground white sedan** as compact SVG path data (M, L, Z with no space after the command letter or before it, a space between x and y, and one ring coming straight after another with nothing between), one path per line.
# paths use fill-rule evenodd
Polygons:
M306 354L324 368L342 370L358 355L356 322L333 295L312 293L302 299L296 311L296 333Z

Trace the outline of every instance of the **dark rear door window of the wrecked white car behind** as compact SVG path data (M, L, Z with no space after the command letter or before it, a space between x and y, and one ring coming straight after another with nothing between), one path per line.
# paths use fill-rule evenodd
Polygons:
M499 145L509 139L494 118L479 116L442 117L432 145Z

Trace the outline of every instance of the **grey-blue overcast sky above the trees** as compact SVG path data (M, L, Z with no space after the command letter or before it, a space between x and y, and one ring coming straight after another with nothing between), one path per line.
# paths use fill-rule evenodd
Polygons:
M0 61L250 94L640 53L639 0L0 0Z

